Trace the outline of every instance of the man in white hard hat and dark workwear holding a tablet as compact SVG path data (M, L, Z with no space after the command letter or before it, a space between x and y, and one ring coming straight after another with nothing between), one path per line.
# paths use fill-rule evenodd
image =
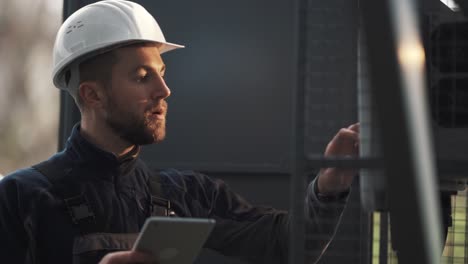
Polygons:
M152 171L138 157L141 145L165 137L171 92L161 54L181 47L166 42L143 7L123 0L88 5L64 22L53 79L75 99L81 122L62 152L0 182L2 262L151 263L153 256L129 251L151 215L214 218L205 247L252 263L286 262L286 212L251 206L197 172ZM357 142L358 125L344 128L325 155L356 155ZM330 168L310 184L313 232L331 236L355 173Z

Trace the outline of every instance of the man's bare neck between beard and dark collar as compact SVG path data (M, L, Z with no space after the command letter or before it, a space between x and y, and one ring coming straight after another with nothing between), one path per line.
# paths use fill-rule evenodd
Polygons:
M130 152L135 145L123 140L105 125L90 124L81 120L80 134L98 148L114 154L117 158Z

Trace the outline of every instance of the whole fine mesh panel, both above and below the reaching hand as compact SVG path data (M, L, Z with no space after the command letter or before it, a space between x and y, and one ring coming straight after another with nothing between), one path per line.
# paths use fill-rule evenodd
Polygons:
M343 161L349 159L345 156L325 159L323 154L339 129L359 120L358 1L307 1L307 4L304 152L309 167L318 171L343 166ZM360 166L357 162L346 164ZM362 211L356 182L337 233L319 263L368 263L368 220L367 212ZM306 243L313 245L321 240L323 237L309 233Z

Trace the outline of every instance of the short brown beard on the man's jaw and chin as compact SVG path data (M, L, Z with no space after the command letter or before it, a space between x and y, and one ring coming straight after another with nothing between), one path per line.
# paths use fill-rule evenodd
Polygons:
M160 100L159 104L151 105L143 115L126 111L119 107L112 96L105 122L123 140L134 145L148 145L161 142L166 137L166 119L157 119L154 112L158 109L164 116L167 112L167 102Z

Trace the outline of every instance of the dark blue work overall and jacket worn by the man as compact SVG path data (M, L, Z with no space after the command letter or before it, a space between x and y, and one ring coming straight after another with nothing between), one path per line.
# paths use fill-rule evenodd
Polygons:
M3 178L0 262L98 263L130 249L146 218L172 213L217 221L206 248L251 263L286 262L286 212L251 206L201 173L151 170L138 152L118 159L85 140L77 125L65 150ZM312 201L306 211L312 232L331 234L342 207ZM321 225L319 215L331 220Z

